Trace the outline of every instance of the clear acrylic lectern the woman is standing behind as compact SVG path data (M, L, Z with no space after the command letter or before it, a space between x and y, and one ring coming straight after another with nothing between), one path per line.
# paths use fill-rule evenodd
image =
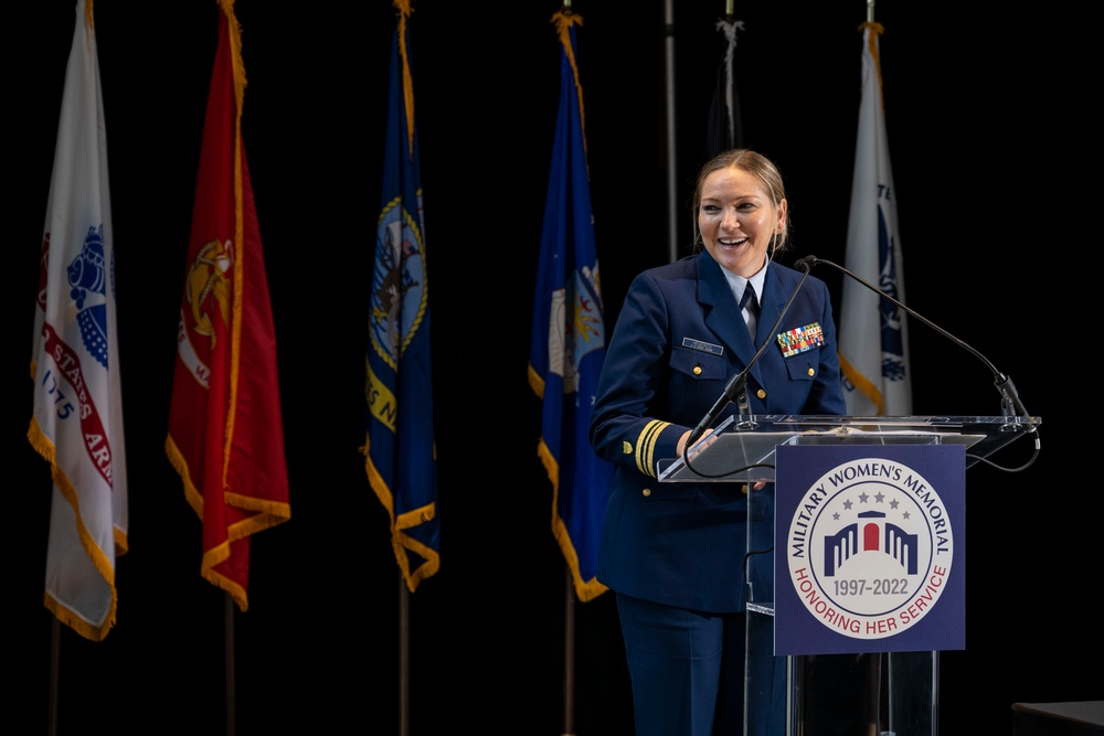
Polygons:
M1039 424L1032 416L734 415L691 448L689 465L686 458L661 460L659 480L746 483L752 504L757 493L774 491L772 486L755 489L755 483L774 483L779 446L963 445L969 468L1018 439L1031 437L1038 448ZM775 631L771 516L747 524L744 734L935 736L938 651L775 657L773 642L782 632ZM754 658L774 658L775 671L782 674L769 682L756 679Z

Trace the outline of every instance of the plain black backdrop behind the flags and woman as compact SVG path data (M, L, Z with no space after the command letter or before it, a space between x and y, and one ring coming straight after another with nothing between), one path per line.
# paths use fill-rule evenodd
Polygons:
M668 260L667 33L676 50L677 227L689 252L688 202L724 7L677 4L669 29L657 0L573 4L584 19L577 58L611 328L633 276ZM867 11L859 0L834 4L735 8L745 23L736 49L745 139L785 174L787 263L809 254L843 263ZM416 0L411 19L442 520L440 570L410 601L416 736L551 736L563 725L564 563L535 452L540 406L526 378L560 95L550 22L559 7ZM3 297L13 335L4 427L9 513L20 526L20 554L7 565L14 585L4 669L8 718L24 733L43 730L50 708L50 479L25 437L28 366L74 8L11 7L2 52L4 220L17 256ZM130 552L117 564L118 622L107 639L62 630L59 729L220 734L223 594L199 576L200 523L163 450L219 9L214 0L97 0L95 10ZM1007 372L1043 418L1042 452L1028 471L977 467L967 476L966 649L942 655L941 733L952 735L1008 733L1013 702L1104 696L1098 674L1081 674L1104 654L1095 602L1104 516L1092 460L1095 382L1080 375L1095 370L1097 316L1079 296L1098 281L1101 10L1062 8L1052 19L1040 10L977 0L875 9L909 303ZM399 568L358 451L395 10L388 0L240 0L236 12L293 508L288 523L253 541L251 607L235 617L237 733L396 733ZM839 275L816 275L838 298ZM981 362L920 322L910 330L915 413L998 413ZM1029 449L1016 444L1001 459L1017 466ZM613 597L576 614L575 730L629 734Z

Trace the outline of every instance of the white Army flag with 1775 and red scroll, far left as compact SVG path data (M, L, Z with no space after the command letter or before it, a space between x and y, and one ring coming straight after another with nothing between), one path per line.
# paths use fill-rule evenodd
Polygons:
M28 439L50 462L45 606L100 641L127 550L127 458L107 140L92 8L76 3L34 310Z

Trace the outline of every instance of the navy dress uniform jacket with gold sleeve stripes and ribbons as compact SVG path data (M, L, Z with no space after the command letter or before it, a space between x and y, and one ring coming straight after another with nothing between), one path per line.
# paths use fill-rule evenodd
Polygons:
M744 610L749 497L743 483L660 483L656 462L677 457L679 437L701 422L765 341L772 344L746 385L752 414L846 413L824 281L806 277L772 331L803 276L769 264L754 343L708 252L633 281L607 346L590 426L595 452L616 466L597 570L612 590L702 612ZM778 335L786 341L816 335L817 329L819 340L792 345L793 354L785 354ZM735 410L730 403L718 420ZM752 493L768 504L756 502L753 519L773 519L773 490Z

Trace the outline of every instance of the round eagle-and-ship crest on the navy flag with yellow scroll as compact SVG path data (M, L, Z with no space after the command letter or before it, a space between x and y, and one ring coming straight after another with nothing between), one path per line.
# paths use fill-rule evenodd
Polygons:
M417 206L421 210L421 193ZM428 299L417 216L396 199L381 213L376 230L371 339L372 348L393 370L422 324Z

